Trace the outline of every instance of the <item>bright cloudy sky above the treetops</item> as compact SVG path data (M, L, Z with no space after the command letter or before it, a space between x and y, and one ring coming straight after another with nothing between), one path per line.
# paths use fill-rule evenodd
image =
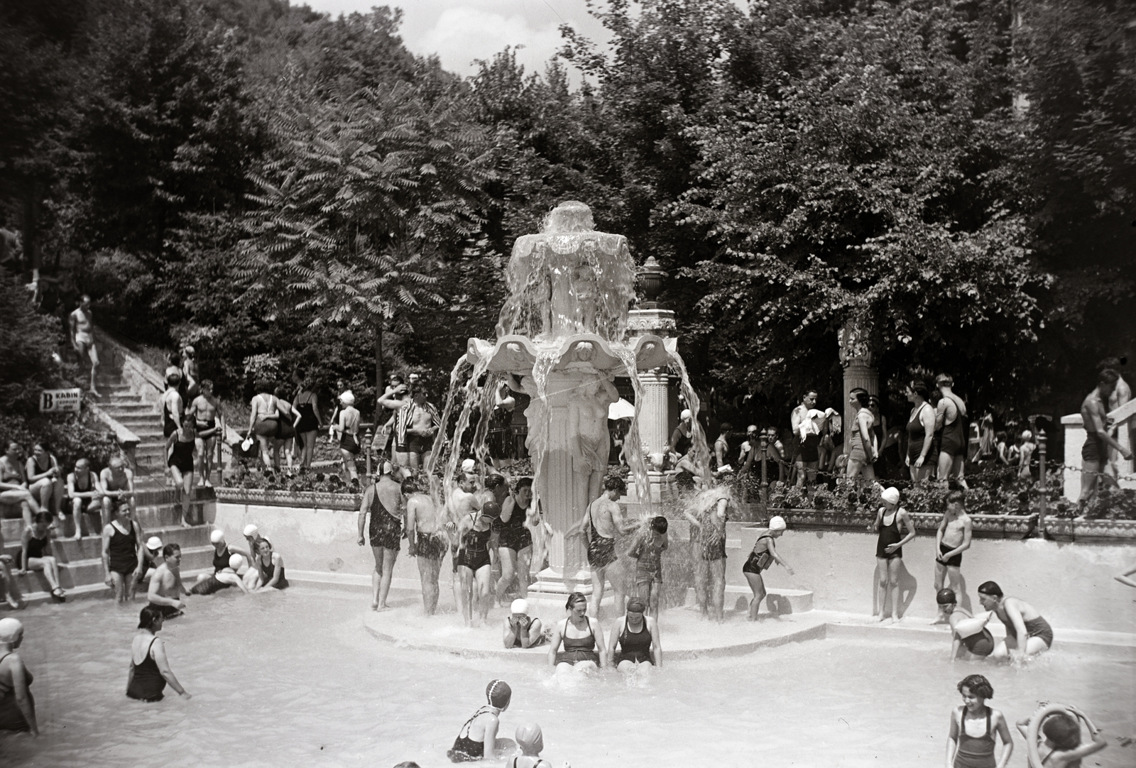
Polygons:
M402 40L415 53L436 53L442 66L461 75L476 72L475 59L488 59L506 45L524 45L517 60L525 72L544 72L562 45L560 24L570 24L593 40L605 37L588 16L585 0L293 0L315 10L367 12L371 6L401 8Z

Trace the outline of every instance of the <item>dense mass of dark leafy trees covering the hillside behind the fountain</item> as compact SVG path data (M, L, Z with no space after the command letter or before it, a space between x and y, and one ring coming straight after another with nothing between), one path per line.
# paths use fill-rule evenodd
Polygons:
M696 384L754 419L837 395L845 326L885 384L949 369L972 410L1068 412L1136 357L1125 3L593 10L609 43L462 81L390 8L12 0L0 225L44 309L90 291L223 393L270 362L365 412L383 366L445 381L492 334L512 241L563 199L670 270Z

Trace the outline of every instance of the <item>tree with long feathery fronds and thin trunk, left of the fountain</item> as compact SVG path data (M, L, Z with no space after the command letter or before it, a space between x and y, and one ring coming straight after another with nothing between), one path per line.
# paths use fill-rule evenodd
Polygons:
M443 302L429 273L475 245L492 157L454 103L427 103L407 83L323 103L302 94L270 124L243 272L253 291L285 291L312 325L373 329L382 392L384 324Z

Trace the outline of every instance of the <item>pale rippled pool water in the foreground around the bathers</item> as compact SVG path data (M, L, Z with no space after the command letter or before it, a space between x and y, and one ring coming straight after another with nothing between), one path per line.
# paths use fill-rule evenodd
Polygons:
M304 587L191 598L161 636L193 699L167 687L156 704L125 696L141 601L24 611L42 735L0 735L0 766L449 766L445 750L493 677L513 690L501 735L538 723L557 768L942 766L955 683L975 673L1011 723L1038 700L1088 712L1110 746L1085 768L1136 765L1136 745L1116 741L1136 736L1131 659L1058 650L1020 667L952 663L946 646L882 633L677 662L642 686L615 673L566 682L532 663L383 643L364 629L367 603ZM1024 741L1014 746L1010 765L1025 766Z

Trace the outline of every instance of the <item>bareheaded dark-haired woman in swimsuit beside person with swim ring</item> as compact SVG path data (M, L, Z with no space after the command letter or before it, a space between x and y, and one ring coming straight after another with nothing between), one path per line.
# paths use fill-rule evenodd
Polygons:
M1013 754L1013 740L1002 712L986 706L986 700L994 698L994 687L982 675L968 675L959 683L959 693L962 706L951 712L946 733L947 768L1005 768ZM995 734L1002 738L997 759Z

